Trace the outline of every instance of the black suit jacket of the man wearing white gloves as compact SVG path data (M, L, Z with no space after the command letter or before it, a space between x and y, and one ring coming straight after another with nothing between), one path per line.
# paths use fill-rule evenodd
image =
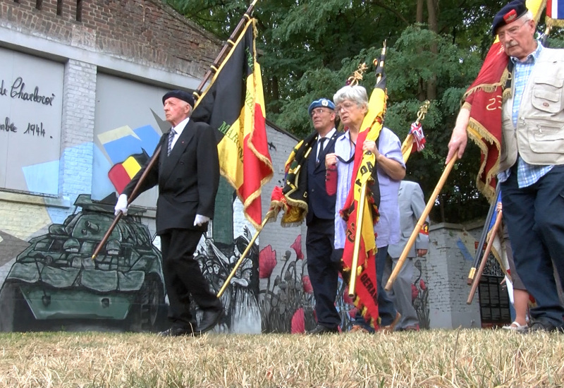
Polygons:
M214 129L207 123L188 121L176 140L170 155L168 133L162 135L161 154L141 183L138 194L159 185L157 200L157 234L167 229L207 230L207 224L194 226L196 214L214 217L219 186L219 159ZM148 162L147 162L148 164ZM147 164L125 186L124 194L131 195ZM133 201L135 198L131 198Z

